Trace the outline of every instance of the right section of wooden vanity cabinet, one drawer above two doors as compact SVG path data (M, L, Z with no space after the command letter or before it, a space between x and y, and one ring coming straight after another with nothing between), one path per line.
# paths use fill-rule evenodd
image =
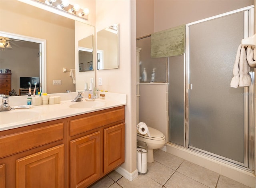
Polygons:
M71 188L87 187L124 162L124 106L70 117L67 125Z

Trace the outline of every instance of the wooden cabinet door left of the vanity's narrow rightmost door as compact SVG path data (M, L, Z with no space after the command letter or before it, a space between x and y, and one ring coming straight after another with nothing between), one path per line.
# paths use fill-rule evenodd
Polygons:
M70 142L70 187L84 188L100 178L100 131Z

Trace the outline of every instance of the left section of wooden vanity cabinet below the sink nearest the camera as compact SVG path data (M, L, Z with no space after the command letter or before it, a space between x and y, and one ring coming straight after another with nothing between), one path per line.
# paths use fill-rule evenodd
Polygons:
M65 187L65 120L0 132L0 188Z

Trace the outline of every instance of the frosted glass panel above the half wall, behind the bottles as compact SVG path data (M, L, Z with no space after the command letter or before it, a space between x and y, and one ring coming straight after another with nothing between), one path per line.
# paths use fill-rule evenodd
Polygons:
M146 68L146 82L151 81L151 73L155 68L155 82L166 82L166 65L165 57L151 58L150 57L150 37L137 40L137 47L140 50L140 82L142 82L142 72Z

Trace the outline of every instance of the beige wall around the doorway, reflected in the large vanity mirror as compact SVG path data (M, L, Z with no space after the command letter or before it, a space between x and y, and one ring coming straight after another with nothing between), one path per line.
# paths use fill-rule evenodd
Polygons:
M75 67L74 21L18 1L0 3L1 31L46 39L47 92L75 91L72 78L62 72L62 67ZM53 79L62 80L62 85L52 85Z

